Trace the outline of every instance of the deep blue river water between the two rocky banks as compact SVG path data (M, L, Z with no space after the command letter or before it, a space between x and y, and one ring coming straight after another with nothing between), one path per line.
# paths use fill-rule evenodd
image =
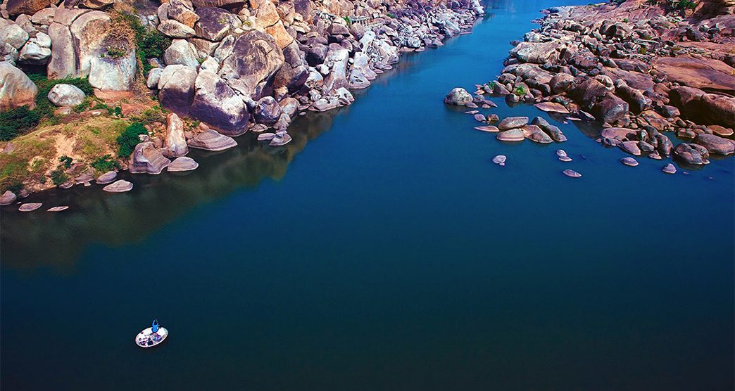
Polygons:
M732 390L735 159L664 175L557 123L565 165L442 104L551 5L492 4L286 148L2 209L1 388Z

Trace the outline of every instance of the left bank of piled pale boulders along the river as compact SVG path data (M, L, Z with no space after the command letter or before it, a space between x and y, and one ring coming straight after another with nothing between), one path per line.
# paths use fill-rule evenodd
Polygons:
M226 150L247 132L273 147L287 144L296 116L351 104L351 90L369 87L401 53L470 31L483 10L478 0L10 0L0 12L0 113L35 110L41 102L53 108L42 125L87 125L106 116L129 127L140 123L117 166L156 175L196 169L196 161L181 159L190 148ZM47 101L37 96L31 73L84 78L92 90L54 84ZM104 109L87 107L90 100ZM90 135L69 141L57 128L46 133L52 136L0 142L3 164L35 170L0 178L0 205L15 202L15 193L115 180L115 170L93 167L79 147ZM21 158L40 142L54 144L54 152Z

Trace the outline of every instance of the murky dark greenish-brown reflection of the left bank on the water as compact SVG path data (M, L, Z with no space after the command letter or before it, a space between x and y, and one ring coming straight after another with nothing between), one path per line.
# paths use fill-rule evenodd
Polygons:
M17 205L0 211L0 246L4 267L35 269L51 267L66 273L93 243L121 245L140 241L190 208L221 199L232 191L250 188L264 178L280 180L290 161L309 140L331 128L334 116L348 108L328 113L309 113L294 121L293 141L282 147L263 145L251 134L237 139L237 147L220 153L193 150L199 162L186 174L130 175L132 191L110 194L101 186L74 186L33 194L24 202L43 202L34 213L18 212ZM67 211L47 213L55 205Z

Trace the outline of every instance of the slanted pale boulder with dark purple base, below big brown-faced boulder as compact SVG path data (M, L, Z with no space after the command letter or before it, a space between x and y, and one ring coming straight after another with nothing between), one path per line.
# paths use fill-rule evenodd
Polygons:
M196 77L195 88L190 111L192 117L229 136L245 133L248 108L220 76L203 70Z

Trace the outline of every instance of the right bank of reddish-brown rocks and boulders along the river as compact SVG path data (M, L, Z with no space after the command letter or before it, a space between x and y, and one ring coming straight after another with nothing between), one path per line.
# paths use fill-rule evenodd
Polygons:
M568 120L598 121L598 142L634 156L702 165L710 154L734 153L735 3L628 0L543 12L539 29L512 43L501 75L473 95L453 89L445 103L487 106L485 95L534 103ZM563 141L548 123L514 117L495 127L500 119L489 119L478 129L501 131L501 140Z

